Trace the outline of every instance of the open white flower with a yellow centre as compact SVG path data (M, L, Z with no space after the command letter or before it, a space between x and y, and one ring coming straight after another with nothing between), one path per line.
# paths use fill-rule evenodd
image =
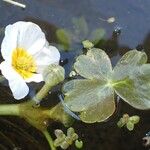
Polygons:
M43 81L43 69L60 59L58 50L48 45L40 27L23 21L6 27L1 53L4 61L0 69L15 99L22 99L28 94L26 82Z

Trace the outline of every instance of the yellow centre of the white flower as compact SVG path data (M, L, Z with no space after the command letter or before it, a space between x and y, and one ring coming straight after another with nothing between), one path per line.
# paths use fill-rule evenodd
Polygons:
M12 66L24 79L32 77L37 70L33 56L23 48L16 48L13 51Z

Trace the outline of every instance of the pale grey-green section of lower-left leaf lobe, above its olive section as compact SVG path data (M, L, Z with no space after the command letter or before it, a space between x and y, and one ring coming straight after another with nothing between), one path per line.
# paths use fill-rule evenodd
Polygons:
M64 86L65 101L67 106L75 112L84 111L94 106L101 100L108 99L112 95L112 89L106 82L99 80L72 80Z

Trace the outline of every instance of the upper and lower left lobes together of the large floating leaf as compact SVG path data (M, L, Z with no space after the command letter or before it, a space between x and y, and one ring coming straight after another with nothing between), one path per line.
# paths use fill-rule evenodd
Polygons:
M93 48L87 55L77 58L74 68L78 74L88 79L72 80L64 85L67 107L80 112L84 122L106 120L115 111L114 91L107 80L112 71L110 59L104 51Z

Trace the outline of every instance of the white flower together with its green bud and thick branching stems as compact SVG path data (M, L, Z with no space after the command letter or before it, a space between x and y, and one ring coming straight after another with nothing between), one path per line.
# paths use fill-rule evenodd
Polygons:
M31 22L17 22L8 25L1 46L4 61L0 64L1 81L6 78L15 99L24 98L29 82L45 81L43 87L29 101L19 104L1 104L0 115L19 116L40 130L48 140L52 150L52 138L47 131L49 119L60 121L65 126L71 118L58 103L52 108L40 106L40 102L51 88L64 80L64 69L58 65L60 54L49 46L40 27ZM38 105L37 105L38 104Z

